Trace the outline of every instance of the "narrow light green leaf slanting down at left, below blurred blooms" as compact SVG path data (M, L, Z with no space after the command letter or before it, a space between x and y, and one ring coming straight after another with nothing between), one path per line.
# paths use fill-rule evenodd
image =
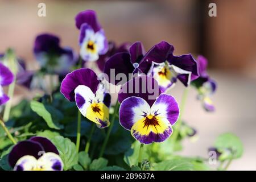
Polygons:
M42 117L44 121L46 121L47 125L51 129L61 129L59 126L56 126L55 123L53 123L51 113L49 113L49 111L46 110L46 107L44 107L42 103L38 101L31 101L30 107L35 113L40 115L40 117Z

